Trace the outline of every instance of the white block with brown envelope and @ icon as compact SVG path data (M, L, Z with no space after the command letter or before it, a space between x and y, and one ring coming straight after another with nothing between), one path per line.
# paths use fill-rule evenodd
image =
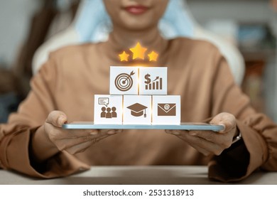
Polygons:
M180 95L153 95L152 124L180 124Z

